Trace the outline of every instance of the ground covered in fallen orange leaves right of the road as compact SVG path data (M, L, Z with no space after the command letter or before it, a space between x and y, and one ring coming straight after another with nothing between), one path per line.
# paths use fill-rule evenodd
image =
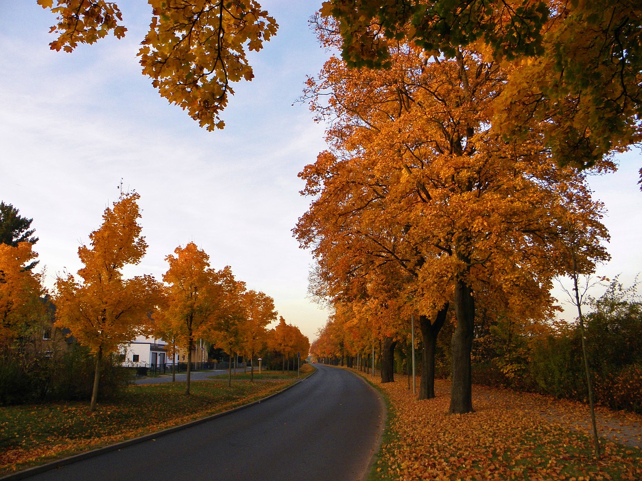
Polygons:
M642 416L600 409L596 461L586 405L474 386L475 412L447 414L448 382L437 382L437 398L419 401L404 376L368 379L392 410L372 479L642 480Z

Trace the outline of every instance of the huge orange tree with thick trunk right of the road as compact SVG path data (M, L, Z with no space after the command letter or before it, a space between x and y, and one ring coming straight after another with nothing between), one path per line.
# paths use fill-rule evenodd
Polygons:
M361 269L364 254L396 264L412 278L404 291L415 312L437 321L447 305L455 310L450 409L469 412L480 294L532 317L550 314L551 278L568 268L556 249L558 199L590 194L582 174L551 162L541 131L507 142L494 128L506 72L475 51L455 56L399 46L387 71L333 58L309 81L313 110L329 120L330 150L300 174L314 200L295 233L332 269ZM582 222L599 215L591 208Z

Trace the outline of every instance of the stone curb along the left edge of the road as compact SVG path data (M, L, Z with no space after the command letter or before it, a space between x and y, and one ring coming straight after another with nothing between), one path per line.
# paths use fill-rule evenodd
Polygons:
M315 369L309 376L312 376L316 372L317 372L317 369ZM127 441L121 441L120 443L110 444L109 446L103 446L102 448L96 448L95 450L86 451L84 453L76 454L63 459L58 459L56 461L48 462L47 464L34 466L33 468L24 469L23 471L17 471L16 473L12 473L10 475L0 476L0 481L18 481L21 479L30 478L31 476L35 476L40 473L45 473L46 471L51 471L53 469L62 468L62 466L67 466L69 464L73 464L74 462L82 461L83 459L96 457L98 455L105 454L110 451L121 450L122 448L126 448L127 446L132 446L132 444L143 443L144 441L150 441L151 439L156 439L157 437L160 437L160 436L171 434L173 432L177 432L183 429L191 428L192 426L196 426L202 423L207 423L207 421L211 421L212 419L220 418L221 416L227 416L227 414L232 414L232 412L236 412L241 409L246 409L256 404L261 404L262 402L265 402L268 399L273 398L274 396L278 396L282 392L288 391L288 389L294 387L295 385L298 385L300 382L304 382L306 379L309 378L309 376L303 379L297 380L297 382L293 382L288 387L284 387L283 389L281 389L281 391L274 392L273 394L270 394L270 396L266 396L265 398L261 398L257 401L252 401L249 404L244 404L242 406L235 407L234 409L229 409L227 411L218 412L216 414L212 414L211 416L207 416L207 418L201 418L201 419L196 419L195 421L189 421L189 423L174 426L173 428L167 428L162 431L153 432L151 434L145 434L140 437L134 437L132 439L128 439Z

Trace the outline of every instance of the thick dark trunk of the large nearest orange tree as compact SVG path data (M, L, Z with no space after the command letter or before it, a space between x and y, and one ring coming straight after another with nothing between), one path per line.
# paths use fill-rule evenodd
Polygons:
M473 411L473 378L471 351L475 321L473 289L460 276L455 280L455 314L457 323L451 351L453 356L452 388L449 412Z

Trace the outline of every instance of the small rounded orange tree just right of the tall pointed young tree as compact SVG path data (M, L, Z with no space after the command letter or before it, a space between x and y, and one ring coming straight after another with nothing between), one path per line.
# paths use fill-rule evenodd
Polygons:
M171 330L187 351L187 381L185 394L189 396L191 353L196 339L204 337L213 328L219 316L225 313L226 292L221 278L229 278L229 268L216 271L210 267L209 255L194 242L174 249L168 255L169 268L163 274L166 284L166 330Z

